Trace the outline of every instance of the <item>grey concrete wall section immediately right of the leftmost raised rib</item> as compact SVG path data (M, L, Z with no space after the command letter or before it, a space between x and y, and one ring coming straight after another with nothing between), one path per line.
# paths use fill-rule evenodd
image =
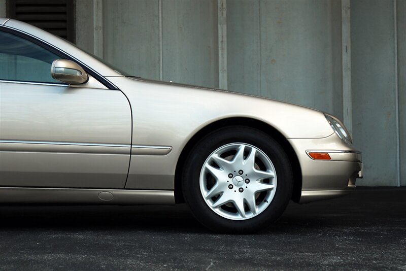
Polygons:
M104 58L134 75L159 79L158 1L104 1L103 20L109 22Z

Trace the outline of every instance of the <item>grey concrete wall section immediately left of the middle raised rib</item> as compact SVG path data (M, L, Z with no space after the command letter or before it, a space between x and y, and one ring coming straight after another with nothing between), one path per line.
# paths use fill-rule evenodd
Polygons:
M218 87L217 1L162 1L163 80Z

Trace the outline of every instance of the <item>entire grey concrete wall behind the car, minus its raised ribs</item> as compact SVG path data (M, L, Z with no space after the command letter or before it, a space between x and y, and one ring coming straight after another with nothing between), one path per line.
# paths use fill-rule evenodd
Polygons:
M343 119L340 0L226 4L228 89ZM92 5L76 2L77 44L90 51ZM215 0L104 0L103 56L145 78L218 87L217 9ZM359 185L406 185L405 14L404 0L351 1Z

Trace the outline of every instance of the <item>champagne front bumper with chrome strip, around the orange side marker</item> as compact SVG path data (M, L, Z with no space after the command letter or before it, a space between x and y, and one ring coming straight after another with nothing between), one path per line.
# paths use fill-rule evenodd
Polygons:
M346 195L362 178L362 155L337 140L335 134L324 139L289 139L301 169L299 203ZM331 160L314 160L309 152L328 153Z

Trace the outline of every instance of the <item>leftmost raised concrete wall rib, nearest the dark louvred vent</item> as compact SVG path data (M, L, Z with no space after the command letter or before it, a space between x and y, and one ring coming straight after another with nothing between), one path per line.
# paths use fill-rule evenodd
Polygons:
M103 58L103 1L93 0L93 53Z

